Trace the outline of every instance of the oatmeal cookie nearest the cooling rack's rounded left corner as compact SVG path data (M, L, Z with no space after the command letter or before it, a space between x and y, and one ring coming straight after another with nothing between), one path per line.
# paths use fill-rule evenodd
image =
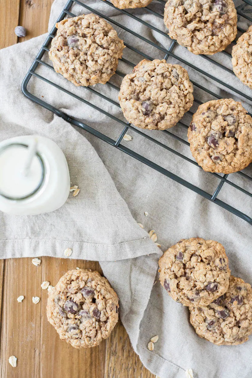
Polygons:
M74 85L105 84L115 73L124 43L97 15L86 14L56 24L49 58L54 70Z

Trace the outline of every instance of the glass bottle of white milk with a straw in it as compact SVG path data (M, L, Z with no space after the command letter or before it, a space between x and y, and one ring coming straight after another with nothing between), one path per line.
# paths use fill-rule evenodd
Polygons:
M70 191L65 155L51 139L17 136L0 142L0 211L34 215L62 206Z

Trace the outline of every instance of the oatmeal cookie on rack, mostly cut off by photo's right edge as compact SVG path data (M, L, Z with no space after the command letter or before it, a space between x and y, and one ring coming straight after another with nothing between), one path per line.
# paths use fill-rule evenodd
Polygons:
M232 65L236 76L252 89L252 25L233 46Z

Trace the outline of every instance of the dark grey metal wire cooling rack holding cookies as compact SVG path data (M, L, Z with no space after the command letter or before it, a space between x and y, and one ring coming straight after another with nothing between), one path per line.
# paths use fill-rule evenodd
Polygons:
M98 1L99 0L97 0L97 2ZM163 1L163 0L158 0L158 1L159 1L159 3L161 3L162 6L164 6L165 1ZM249 0L243 0L243 1L244 1L244 3L252 6L252 3ZM108 6L110 6L112 8L115 8L107 0L105 0L104 3L106 3ZM72 7L75 4L80 5L80 6L83 7L83 13L90 13L91 12L91 13L97 14L99 17L102 17L105 20L107 20L110 24L116 25L116 26L122 28L127 33L130 33L131 36L135 36L136 39L139 39L139 40L141 40L143 42L148 43L151 46L154 46L160 52L164 53L164 58L163 59L167 60L169 57L173 57L176 60L178 60L178 62L181 62L182 64L185 64L185 65L193 68L194 70L198 71L199 73L203 74L206 77L209 77L213 81L217 82L218 84L223 85L224 87L226 87L229 90L237 93L238 95L242 96L243 98L246 98L246 99L252 101L252 98L250 98L246 94L242 93L241 91L237 90L237 88L234 88L234 87L232 87L229 84L225 84L223 81L221 81L217 77L214 77L211 74L209 74L209 73L201 70L201 68L195 67L190 62L188 62L188 61L182 59L181 57L177 56L176 54L174 54L173 50L174 50L174 47L175 47L175 45L177 43L175 40L172 40L172 43L170 44L169 48L165 49L164 47L159 46L157 43L153 42L152 40L149 40L149 39L141 36L140 34L136 33L135 31L130 30L127 27L125 27L124 25L121 25L120 23L114 21L110 17L107 17L107 15L104 15L104 14L100 13L99 11L97 11L95 9L95 6L93 6L91 8L90 6L88 6L87 4L85 4L83 2L80 2L79 0L69 0L66 3L65 8L62 10L61 14L59 15L59 18L57 19L57 22L60 22L61 20L65 19L66 17L75 17L76 15L71 12ZM248 20L249 22L252 23L252 19L247 15L248 12L244 13L244 11L242 9L243 9L243 7L241 7L241 6L237 7L237 14L240 15L241 17L244 17L244 19L246 19L246 20ZM156 28L156 26L154 26L155 25L155 18L158 17L158 18L163 19L163 15L160 14L160 13L158 13L158 12L156 12L156 11L154 11L149 6L145 7L144 11L149 12L149 13L151 13L153 15L153 25L150 25L149 23L145 22L144 20L140 19L139 17L136 17L135 15L131 14L131 12L128 11L128 10L117 9L117 11L119 11L119 12L123 13L124 15L126 15L127 17L130 17L131 19L134 19L135 21L139 22L139 26L140 26L140 24L145 25L147 28L150 28L153 31L155 31L157 33L160 33L163 36L165 36L168 39L170 39L169 36L166 33L164 33L160 29ZM251 9L251 11L252 11L252 9ZM36 73L36 68L39 65L43 65L46 68L53 70L53 67L51 65L47 64L46 62L44 62L42 60L42 58L43 58L43 56L46 53L48 53L48 51L49 51L49 47L48 46L50 46L51 40L56 35L56 31L57 31L57 29L54 26L53 29L51 30L51 32L49 33L48 37L46 38L43 46L41 47L41 49L39 51L39 53L37 54L36 59L32 63L31 68L29 69L28 73L25 76L25 79L23 80L22 91L23 91L23 93L24 93L25 96L27 96L29 99L31 99L32 101L36 102L37 104L42 105L43 107L45 107L46 109L50 110L51 112L55 113L57 116L65 119L65 121L68 121L71 124L76 125L76 126L80 127L81 129L86 130L87 132L91 133L92 135L95 135L97 138L102 139L103 141L107 142L111 146L114 146L117 149L119 149L119 150L127 153L128 155L130 155L133 158L141 161L142 163L146 164L147 166L152 167L153 169L157 170L161 174L164 174L165 176L171 178L172 180L174 180L174 181L176 181L176 182L178 182L178 183L186 186L187 188L191 189L192 191L196 192L197 194L201 195L202 197L207 198L208 200L216 203L217 205L219 205L222 208L230 211L231 213L237 215L238 217L246 220L246 222L248 222L248 223L250 223L252 225L252 218L249 215L244 214L243 212L239 211L235 207L230 206L230 204L228 204L228 203L226 203L226 202L224 202L224 201L222 201L222 200L220 200L220 199L217 198L218 194L220 193L220 191L221 191L221 189L223 187L223 184L225 184L225 189L226 190L229 189L229 186L232 186L235 189L237 189L238 191L243 192L246 196L252 197L252 193L248 192L247 190L245 190L241 186L238 186L237 184L235 184L232 181L228 180L227 179L227 177L228 177L227 174L226 175L219 175L219 174L216 174L216 173L208 173L209 175L213 175L215 178L218 179L218 185L216 186L216 189L214 190L213 194L204 191L203 189L199 188L198 186L193 185L189 181L184 180L183 178L181 178L178 175L170 172L167 169L164 169L163 167L159 166L158 164L154 163L153 161L148 160L147 158L145 158L141 154L136 153L135 151L133 151L133 150L125 147L123 144L121 144L121 141L122 141L123 136L127 132L127 130L131 129L134 132L136 132L139 135L141 135L143 138L147 138L149 141L152 141L153 143L157 144L158 146L160 146L160 147L168 150L169 152L174 153L175 155L179 156L180 158L183 158L184 160L188 161L189 163L194 164L195 166L198 166L198 164L195 161L193 161L192 159L188 158L187 156L182 155L181 153L179 153L176 150L170 148L169 146L165 145L164 143L161 143L160 141L152 138L152 136L150 136L151 133L152 133L152 131L150 131L149 133L143 133L140 129L137 129L137 128L133 127L129 123L122 121L121 119L119 119L119 118L117 118L117 117L109 114L108 112L106 112L105 110L97 107L96 105L92 104L91 102L88 102L87 99L83 99L83 98L77 96L76 94L74 94L74 93L72 93L72 92L64 89L60 85L57 85L54 82L48 80L46 77L43 77L43 76L39 75L38 73ZM238 31L240 31L241 33L244 33L245 30L243 30L243 29L241 29L241 28L238 27ZM129 45L128 43L125 43L125 42L124 42L124 44L125 44L126 48L128 48L131 51L139 54L142 57L142 59L145 58L145 59L153 60L152 57L150 57L147 54L145 54L144 52L138 50L138 48L135 48L134 46ZM230 54L227 53L226 51L223 51L221 54L225 54L225 55L231 57ZM230 73L233 74L232 70L229 70L229 68L224 67L222 64L220 64L219 62L216 62L212 58L210 58L208 56L202 56L202 57L204 59L206 59L207 61L209 61L211 64L216 65L216 66L218 66L218 67L220 67L220 68L222 68L222 69L224 69L226 71L229 71ZM134 63L130 62L127 59L122 58L122 61L125 64L129 65L130 67L134 67L135 66ZM119 76L121 76L121 77L124 77L124 74L121 73L118 70L116 71L116 74L119 75ZM112 138L106 136L105 134L99 132L98 130L95 130L93 127L90 127L87 124L84 124L83 122L78 121L77 117L76 118L70 117L66 113L64 113L61 110L59 110L58 108L54 107L53 105L48 104L47 102L43 101L41 98L38 98L37 96L33 95L28 90L28 88L27 88L28 82L30 81L31 77L36 77L37 79L42 80L42 81L46 82L49 85L53 85L59 91L63 91L65 93L67 93L68 95L73 96L76 100L81 101L82 103L91 106L92 108L94 108L94 109L98 110L99 112L103 113L105 116L110 117L114 121L118 122L120 125L122 125L121 126L122 127L122 131L121 131L120 135L118 135L117 138L112 139ZM65 80L65 79L62 78L62 80ZM212 98L215 98L215 99L216 98L217 99L221 98L219 95L217 95L216 93L213 93L212 91L210 91L207 88L204 88L203 86L199 85L197 82L194 82L191 79L190 79L190 81L193 83L193 85L195 87L199 88L200 90L204 90L210 96L212 96ZM119 88L116 85L114 85L114 84L112 84L110 82L108 82L106 85L109 85L110 87L112 87L112 88L114 88L116 90L119 90ZM116 105L116 106L119 107L119 104L117 102L115 102L112 99L108 98L107 96L104 96L101 93L95 91L93 88L91 88L91 87L85 87L85 90L91 91L92 93L95 93L97 96L99 96L101 98L101 101L102 100L109 101L110 103L112 103L112 104L114 104L114 105ZM202 102L199 101L198 99L195 99L195 102L196 102L197 105L202 104ZM189 114L190 116L192 116L193 113L189 111L187 114ZM179 125L179 127L184 127L184 128L188 127L183 122L178 122L178 125ZM169 136L169 138L175 138L180 143L189 146L189 143L187 141L185 141L184 139L180 138L177 135L174 135L172 132L170 132L168 130L164 130L163 133L165 133L167 136ZM201 167L199 167L199 166L198 166L198 168L201 169ZM250 176L244 174L244 172L238 172L237 174L242 176L243 181L246 181L247 184L251 185L252 178ZM225 189L223 189L223 190L225 190ZM250 209L250 211L251 211L251 209Z

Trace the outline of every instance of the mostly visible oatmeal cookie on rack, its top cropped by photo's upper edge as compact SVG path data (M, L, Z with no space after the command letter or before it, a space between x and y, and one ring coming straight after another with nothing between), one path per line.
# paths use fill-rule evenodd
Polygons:
M237 34L237 13L232 0L168 0L164 23L169 36L193 54L218 53Z

